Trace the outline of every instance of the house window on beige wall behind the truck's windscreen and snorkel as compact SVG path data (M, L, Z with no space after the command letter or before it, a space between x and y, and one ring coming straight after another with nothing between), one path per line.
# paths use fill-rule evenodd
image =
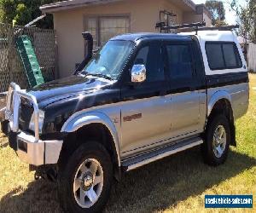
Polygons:
M85 31L93 36L94 48L100 47L111 37L130 32L130 19L127 16L89 17L85 21Z

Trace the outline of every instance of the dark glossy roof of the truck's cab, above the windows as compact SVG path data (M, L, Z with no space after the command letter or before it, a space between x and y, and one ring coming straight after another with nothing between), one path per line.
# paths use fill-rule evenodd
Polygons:
M178 34L172 34L172 33L148 33L148 32L143 32L143 33L131 33L131 34L125 34L125 35L120 35L117 37L111 38L111 40L125 40L125 41L132 41L136 42L140 39L144 38L156 38L156 39L161 39L161 38L176 38L176 39L183 39L183 40L189 40L191 39L190 35L178 35Z

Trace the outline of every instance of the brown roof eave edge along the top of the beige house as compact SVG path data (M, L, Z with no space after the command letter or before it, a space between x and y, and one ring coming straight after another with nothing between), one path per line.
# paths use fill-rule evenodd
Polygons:
M68 0L61 1L58 3L44 4L40 7L43 13L55 13L60 10L66 9L75 9L84 6L96 5L96 4L106 4L106 3L115 3L125 0ZM170 0L172 3L177 4L178 6L184 6L187 9L192 9L196 11L197 5L192 0Z

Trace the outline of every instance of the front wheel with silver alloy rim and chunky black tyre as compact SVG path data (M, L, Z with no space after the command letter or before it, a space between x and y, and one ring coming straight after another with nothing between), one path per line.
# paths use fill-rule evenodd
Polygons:
M66 212L100 212L108 202L113 165L100 143L82 144L60 171L58 180L61 207Z

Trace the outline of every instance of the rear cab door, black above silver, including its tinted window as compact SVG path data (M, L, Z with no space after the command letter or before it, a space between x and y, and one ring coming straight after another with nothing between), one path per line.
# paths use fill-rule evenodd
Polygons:
M180 139L194 135L200 129L200 93L195 87L198 77L192 42L166 42L165 47L172 94L172 138Z

